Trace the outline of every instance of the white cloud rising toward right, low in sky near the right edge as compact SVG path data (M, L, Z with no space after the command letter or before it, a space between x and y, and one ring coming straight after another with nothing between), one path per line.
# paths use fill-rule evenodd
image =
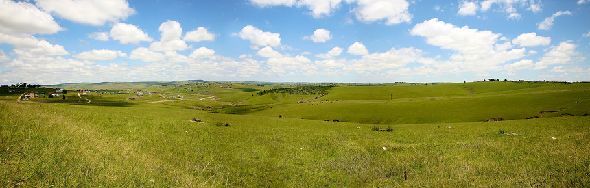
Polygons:
M553 64L569 64L584 57L578 57L580 52L576 51L576 44L571 41L560 42L558 46L551 46L550 51L534 64L535 69L547 68Z

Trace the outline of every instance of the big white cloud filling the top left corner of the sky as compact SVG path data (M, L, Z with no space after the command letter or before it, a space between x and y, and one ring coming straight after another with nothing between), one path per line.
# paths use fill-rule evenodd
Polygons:
M63 31L54 18L26 2L0 0L0 32L52 34Z

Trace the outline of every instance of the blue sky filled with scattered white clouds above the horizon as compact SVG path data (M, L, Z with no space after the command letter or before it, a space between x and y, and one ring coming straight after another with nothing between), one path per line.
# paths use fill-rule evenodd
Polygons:
M590 81L590 0L0 0L0 84Z

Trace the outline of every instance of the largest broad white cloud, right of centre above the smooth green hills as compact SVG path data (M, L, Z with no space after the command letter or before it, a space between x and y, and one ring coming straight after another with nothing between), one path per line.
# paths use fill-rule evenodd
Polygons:
M416 24L410 33L425 37L428 44L457 51L451 55L450 61L436 65L447 69L460 68L473 72L496 70L499 64L524 57L526 53L524 48L511 49L510 42L497 43L500 34L467 26L455 27L438 21L438 18Z

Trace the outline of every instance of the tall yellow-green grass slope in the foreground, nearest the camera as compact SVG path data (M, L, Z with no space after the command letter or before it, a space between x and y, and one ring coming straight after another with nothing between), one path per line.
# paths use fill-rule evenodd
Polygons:
M189 105L0 101L0 187L590 185L589 116L401 124L386 132Z

